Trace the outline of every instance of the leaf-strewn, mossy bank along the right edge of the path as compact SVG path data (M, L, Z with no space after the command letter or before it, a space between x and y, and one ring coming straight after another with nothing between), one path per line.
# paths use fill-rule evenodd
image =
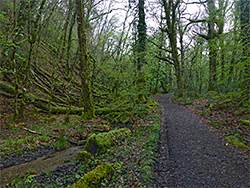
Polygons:
M195 110L208 125L220 131L225 138L233 136L250 147L249 127L244 123L250 120L250 99L244 93L219 94L210 91L198 96L187 92L183 97L175 96L173 101Z

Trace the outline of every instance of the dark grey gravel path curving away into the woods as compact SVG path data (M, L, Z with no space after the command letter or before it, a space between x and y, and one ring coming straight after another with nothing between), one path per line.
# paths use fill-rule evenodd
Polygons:
M250 187L249 160L232 151L187 108L163 95L159 152L154 187Z

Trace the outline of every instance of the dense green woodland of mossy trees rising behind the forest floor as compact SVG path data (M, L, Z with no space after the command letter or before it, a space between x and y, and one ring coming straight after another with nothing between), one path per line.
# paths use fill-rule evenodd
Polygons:
M3 0L0 7L1 94L15 99L16 117L28 103L49 113L82 107L92 117L159 91L214 91L249 105L248 0Z

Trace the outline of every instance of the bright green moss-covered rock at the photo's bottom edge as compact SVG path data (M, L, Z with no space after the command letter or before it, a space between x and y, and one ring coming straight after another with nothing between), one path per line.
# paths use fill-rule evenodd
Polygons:
M113 176L115 173L114 168L108 164L104 163L96 167L91 172L85 174L78 182L70 186L71 188L89 188L98 187L101 181L109 176Z

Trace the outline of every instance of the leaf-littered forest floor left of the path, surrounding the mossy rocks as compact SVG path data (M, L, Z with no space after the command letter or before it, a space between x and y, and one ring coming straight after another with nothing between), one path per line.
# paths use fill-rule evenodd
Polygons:
M160 106L156 102L141 103L130 111L97 116L93 120L72 115L65 122L65 115L48 116L32 106L27 107L25 118L13 120L12 99L1 99L0 187L68 187L103 163L112 164L115 174L100 187L145 187L152 182L161 122ZM111 122L117 118L114 115L127 122ZM126 127L132 135L96 155L93 163L63 158L56 168L44 171L57 156L76 148L68 141L87 140L93 133L108 132L108 127ZM84 150L84 145L76 150ZM36 168L37 165L42 168ZM16 173L20 169L22 174Z

